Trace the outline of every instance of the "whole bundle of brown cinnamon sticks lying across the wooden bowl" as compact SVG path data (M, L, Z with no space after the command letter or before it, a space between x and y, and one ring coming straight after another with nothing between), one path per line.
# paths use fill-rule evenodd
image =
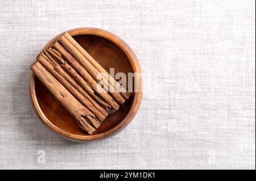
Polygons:
M88 134L131 95L67 32L30 68Z

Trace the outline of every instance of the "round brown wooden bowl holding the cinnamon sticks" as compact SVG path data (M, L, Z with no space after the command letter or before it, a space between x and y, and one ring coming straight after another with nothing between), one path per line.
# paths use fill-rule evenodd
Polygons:
M123 72L126 75L129 72L141 73L141 66L133 50L113 33L98 28L77 28L68 32L107 71L114 68L115 73ZM49 41L44 49L47 49L60 35ZM125 128L133 120L141 104L142 80L138 81L137 86L139 92L133 92L117 112L106 117L101 126L89 135L77 125L34 73L31 72L30 75L31 102L39 119L53 132L78 142L113 136Z

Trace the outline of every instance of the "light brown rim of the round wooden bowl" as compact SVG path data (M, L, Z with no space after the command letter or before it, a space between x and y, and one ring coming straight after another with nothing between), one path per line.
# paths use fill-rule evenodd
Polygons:
M65 31L68 32L71 36L76 36L76 35L94 35L94 36L99 36L103 37L109 41L111 41L113 44L117 45L118 48L122 50L122 52L125 54L127 59L130 62L131 69L133 70L133 73L141 73L141 66L139 65L138 58L136 57L135 53L133 50L123 41L121 38L119 38L117 35L114 35L111 32L108 32L106 30L102 30L100 28L89 28L89 27L83 27L83 28L75 28L72 30ZM64 33L64 32L63 32ZM49 47L53 41L55 41L59 36L63 35L63 33L60 33L59 35L53 37L47 45L43 48L46 49ZM53 132L59 134L60 136L63 136L64 138L67 138L68 140L71 141L88 141L88 140L96 140L100 138L106 138L109 136L114 136L115 134L119 133L124 129L128 124L131 123L133 120L134 116L139 110L139 106L141 105L141 100L142 100L142 76L141 79L138 82L138 87L139 87L139 92L134 93L134 100L131 105L131 108L125 118L118 123L115 127L109 129L108 131L104 133L99 133L99 134L94 134L94 135L77 135L77 134L72 134L69 132L64 131L63 129L60 129L59 127L56 127L56 125L52 124L51 121L48 120L46 115L44 115L43 111L41 110L38 100L36 98L36 92L35 92L35 75L31 71L30 74L30 81L29 81L29 90L30 90L30 98L32 105L34 107L34 110L36 112L36 115L38 115L40 121L46 127L50 128Z

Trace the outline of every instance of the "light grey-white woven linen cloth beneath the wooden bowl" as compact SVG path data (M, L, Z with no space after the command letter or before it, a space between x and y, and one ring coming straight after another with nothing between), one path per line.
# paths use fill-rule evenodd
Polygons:
M0 169L255 169L254 0L25 0L0 7ZM77 27L121 37L144 73L131 124L86 144L44 127L28 94L36 55Z

